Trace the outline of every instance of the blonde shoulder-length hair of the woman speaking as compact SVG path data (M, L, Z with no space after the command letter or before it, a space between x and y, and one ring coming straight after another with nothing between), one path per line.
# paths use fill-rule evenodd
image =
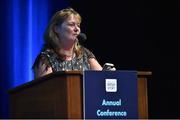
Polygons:
M53 15L44 33L44 41L46 47L48 46L53 49L60 49L61 42L59 41L57 33L54 31L54 27L56 25L61 25L71 15L76 16L81 23L82 18L80 14L70 7L57 11ZM74 50L78 56L82 55L81 46L78 41L75 43Z

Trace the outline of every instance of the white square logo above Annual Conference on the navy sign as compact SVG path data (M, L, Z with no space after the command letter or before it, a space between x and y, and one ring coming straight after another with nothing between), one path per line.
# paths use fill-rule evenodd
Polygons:
M105 79L106 92L117 92L117 79Z

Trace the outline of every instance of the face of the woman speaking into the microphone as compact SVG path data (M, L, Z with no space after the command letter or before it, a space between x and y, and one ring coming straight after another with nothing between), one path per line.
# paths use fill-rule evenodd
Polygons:
M78 17L70 15L61 25L57 26L56 32L62 41L74 42L81 32Z

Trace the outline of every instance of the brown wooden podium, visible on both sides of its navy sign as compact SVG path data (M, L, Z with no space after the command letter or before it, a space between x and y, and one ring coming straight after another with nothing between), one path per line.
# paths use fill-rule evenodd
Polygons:
M139 71L138 116L148 118L147 79ZM61 71L32 80L9 91L10 118L83 119L83 72Z

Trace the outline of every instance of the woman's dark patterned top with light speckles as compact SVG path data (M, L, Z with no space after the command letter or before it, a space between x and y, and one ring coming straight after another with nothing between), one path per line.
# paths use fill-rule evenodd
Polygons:
M33 69L38 67L41 61L47 67L51 67L53 72L68 70L90 70L88 59L95 58L94 54L87 48L83 47L82 57L75 56L72 60L62 60L55 51L46 49L42 51L36 58Z

